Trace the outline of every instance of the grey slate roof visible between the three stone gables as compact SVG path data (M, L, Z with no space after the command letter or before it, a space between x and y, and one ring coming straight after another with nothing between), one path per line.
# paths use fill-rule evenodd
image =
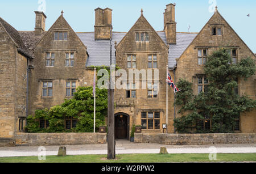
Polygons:
M164 31L157 32L164 43L167 44L166 34ZM117 44L123 39L126 32L113 32L112 37L112 59L115 63L114 42ZM176 65L176 58L179 58L189 44L195 39L197 33L177 33L177 44L170 44L168 66L170 68ZM82 43L87 46L89 58L86 66L109 66L110 60L110 41L94 40L94 32L77 33Z

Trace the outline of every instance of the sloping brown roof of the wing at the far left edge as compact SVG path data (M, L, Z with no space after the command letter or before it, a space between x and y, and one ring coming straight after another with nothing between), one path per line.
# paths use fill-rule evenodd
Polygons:
M28 58L32 58L31 54L28 52L27 47L24 45L24 41L20 36L19 32L16 31L15 28L13 28L9 23L7 23L2 18L0 18L0 24L3 26L3 28L5 28L8 35L14 41L14 44L17 46L18 52Z

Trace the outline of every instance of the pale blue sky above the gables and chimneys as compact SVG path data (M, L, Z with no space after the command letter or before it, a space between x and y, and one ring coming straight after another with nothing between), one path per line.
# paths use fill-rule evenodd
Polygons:
M176 3L177 31L199 32L213 15L209 7L216 1L221 15L256 53L256 1L255 0L45 0L46 29L60 16L64 17L76 32L94 31L94 9L113 9L113 30L127 32L143 14L156 31L163 30L163 12L166 5ZM32 31L35 27L34 11L38 10L39 0L0 0L0 16L19 31ZM246 15L250 14L250 17Z

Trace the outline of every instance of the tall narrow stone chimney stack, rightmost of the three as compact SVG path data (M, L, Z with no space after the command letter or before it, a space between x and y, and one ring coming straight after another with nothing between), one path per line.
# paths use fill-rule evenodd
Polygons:
M168 44L176 44L175 4L170 3L164 12L164 32Z

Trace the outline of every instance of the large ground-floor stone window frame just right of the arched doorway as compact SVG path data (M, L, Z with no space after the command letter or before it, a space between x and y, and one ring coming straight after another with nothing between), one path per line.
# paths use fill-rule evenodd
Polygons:
M146 113L146 114L145 114ZM153 117L148 117L148 113L152 113ZM156 117L156 113L159 113L159 116ZM141 112L141 125L143 130L160 130L160 112L159 111L148 111L148 112ZM149 128L149 120L152 121L152 127ZM156 123L155 121L159 122L158 128L156 128ZM143 126L143 122L146 121L146 127ZM146 129L145 129L146 128Z

